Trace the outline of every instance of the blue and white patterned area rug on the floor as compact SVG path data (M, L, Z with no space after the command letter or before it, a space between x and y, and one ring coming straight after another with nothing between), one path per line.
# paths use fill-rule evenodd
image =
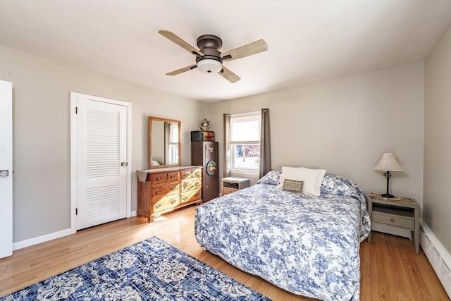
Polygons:
M269 300L153 237L0 300Z

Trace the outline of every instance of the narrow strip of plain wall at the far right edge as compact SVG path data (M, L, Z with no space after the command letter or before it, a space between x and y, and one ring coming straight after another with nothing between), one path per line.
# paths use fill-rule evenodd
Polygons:
M451 254L450 133L451 25L425 63L423 207L425 223Z

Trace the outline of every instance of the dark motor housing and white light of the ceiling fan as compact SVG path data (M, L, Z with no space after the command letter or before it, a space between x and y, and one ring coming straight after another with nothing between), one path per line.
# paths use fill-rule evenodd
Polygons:
M223 59L218 49L223 47L223 41L216 35L201 35L197 38L197 47L199 47L203 56L197 56L197 68L205 73L218 73L222 70Z

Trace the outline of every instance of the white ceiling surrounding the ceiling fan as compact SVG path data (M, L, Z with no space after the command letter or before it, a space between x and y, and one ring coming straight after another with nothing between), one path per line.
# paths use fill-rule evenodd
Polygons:
M213 102L422 61L451 19L450 0L0 0L0 44L191 99ZM264 39L268 51L191 70L194 56L158 34L221 51Z

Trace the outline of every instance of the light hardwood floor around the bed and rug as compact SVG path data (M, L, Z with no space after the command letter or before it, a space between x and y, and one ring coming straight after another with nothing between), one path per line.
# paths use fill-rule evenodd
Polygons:
M114 221L17 250L13 256L0 259L0 297L157 236L272 300L311 300L242 272L202 250L194 238L194 209L175 211L154 223L136 217ZM375 232L371 243L362 242L360 254L360 300L449 300L424 252L416 255L406 238Z

